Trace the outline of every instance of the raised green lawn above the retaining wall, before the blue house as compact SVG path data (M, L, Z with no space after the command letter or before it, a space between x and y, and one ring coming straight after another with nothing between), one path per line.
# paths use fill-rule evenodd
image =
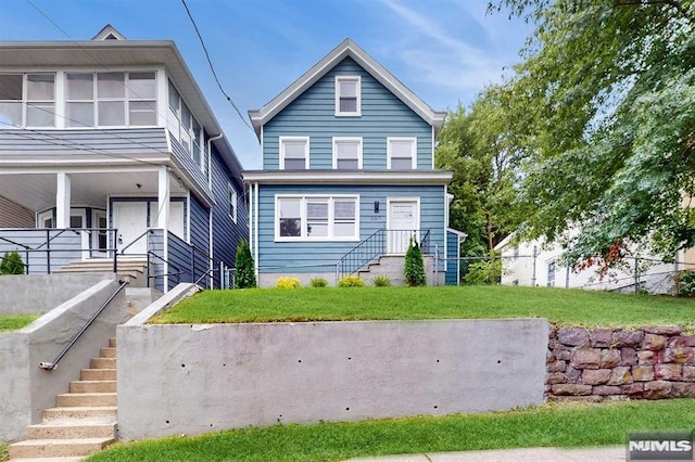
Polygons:
M547 287L351 287L206 291L153 323L547 318L564 325L695 329L695 299Z

